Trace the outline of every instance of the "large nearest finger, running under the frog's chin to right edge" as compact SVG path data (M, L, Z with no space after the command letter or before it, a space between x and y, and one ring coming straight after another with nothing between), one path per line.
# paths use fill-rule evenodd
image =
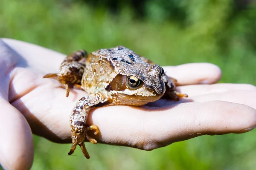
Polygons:
M91 122L90 122L91 121ZM112 106L96 109L89 124L98 142L152 150L204 134L244 133L256 126L256 110L230 102L182 103L166 110Z

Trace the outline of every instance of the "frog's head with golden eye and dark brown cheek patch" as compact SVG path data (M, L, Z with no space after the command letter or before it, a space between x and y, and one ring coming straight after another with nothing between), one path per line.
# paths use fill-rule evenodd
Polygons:
M137 63L133 68L122 69L105 86L122 104L145 105L160 99L165 93L164 70L159 65Z

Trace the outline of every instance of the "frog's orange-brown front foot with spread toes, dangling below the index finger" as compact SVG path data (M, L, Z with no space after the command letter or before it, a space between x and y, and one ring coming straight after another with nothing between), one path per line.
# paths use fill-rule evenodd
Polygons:
M96 125L85 125L85 133L82 133L82 134L72 133L72 146L71 146L71 149L70 149L70 152L68 153L68 155L72 155L74 153L74 151L76 150L76 146L79 145L81 147L81 150L82 150L84 156L87 159L90 158L89 153L86 150L84 140L87 139L89 142L91 142L93 144L97 144L97 141L87 135L87 131L89 131L89 130L95 130L95 133L94 133L95 135L99 133L99 128Z

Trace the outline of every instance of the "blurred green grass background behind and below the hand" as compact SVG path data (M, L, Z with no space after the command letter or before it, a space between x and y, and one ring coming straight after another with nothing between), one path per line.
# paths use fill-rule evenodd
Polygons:
M181 17L168 17L164 3L178 5L183 11ZM236 11L233 0L148 0L145 7L145 17L139 18L131 6L119 6L118 13L113 14L104 6L92 7L82 1L2 0L0 37L65 54L125 45L160 65L212 62L223 70L221 82L256 85L253 5ZM253 170L255 136L255 130L240 135L200 136L150 152L87 144L90 160L80 150L76 156L67 156L70 144L34 136L32 169Z

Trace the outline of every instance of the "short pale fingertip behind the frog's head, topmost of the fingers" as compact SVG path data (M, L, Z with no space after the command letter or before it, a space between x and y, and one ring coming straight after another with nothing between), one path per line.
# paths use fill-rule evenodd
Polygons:
M189 63L163 67L169 77L178 85L213 84L221 78L221 69L210 63Z

